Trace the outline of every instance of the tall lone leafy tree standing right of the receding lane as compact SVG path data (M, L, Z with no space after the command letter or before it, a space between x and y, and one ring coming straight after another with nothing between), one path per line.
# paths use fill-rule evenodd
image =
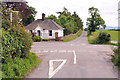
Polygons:
M88 9L90 18L87 18L87 26L89 30L89 34L91 32L96 31L96 29L99 29L100 27L103 27L105 29L105 21L101 18L100 14L98 13L99 10L97 8L91 7Z

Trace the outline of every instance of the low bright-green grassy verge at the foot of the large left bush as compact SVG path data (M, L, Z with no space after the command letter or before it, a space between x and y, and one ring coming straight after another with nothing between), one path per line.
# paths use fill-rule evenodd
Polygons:
M35 53L30 53L27 58L10 59L9 62L2 64L2 78L23 78L40 62Z

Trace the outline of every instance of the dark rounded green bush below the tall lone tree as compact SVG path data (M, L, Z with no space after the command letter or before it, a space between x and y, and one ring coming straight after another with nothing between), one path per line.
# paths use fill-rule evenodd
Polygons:
M110 34L107 34L106 32L100 32L97 38L95 38L92 43L95 44L104 44L104 43L109 43L111 40Z

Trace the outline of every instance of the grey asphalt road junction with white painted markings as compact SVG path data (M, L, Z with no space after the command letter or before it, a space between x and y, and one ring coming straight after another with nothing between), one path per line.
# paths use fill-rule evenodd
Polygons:
M71 42L35 42L43 62L27 78L117 78L110 45L88 43L87 32Z

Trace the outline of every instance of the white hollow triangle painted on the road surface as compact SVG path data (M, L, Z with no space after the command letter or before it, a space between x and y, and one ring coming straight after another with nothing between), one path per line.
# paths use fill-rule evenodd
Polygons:
M53 71L53 62L59 62L62 61L62 63ZM62 67L63 65L66 63L66 59L63 60L49 60L49 78L52 78Z

